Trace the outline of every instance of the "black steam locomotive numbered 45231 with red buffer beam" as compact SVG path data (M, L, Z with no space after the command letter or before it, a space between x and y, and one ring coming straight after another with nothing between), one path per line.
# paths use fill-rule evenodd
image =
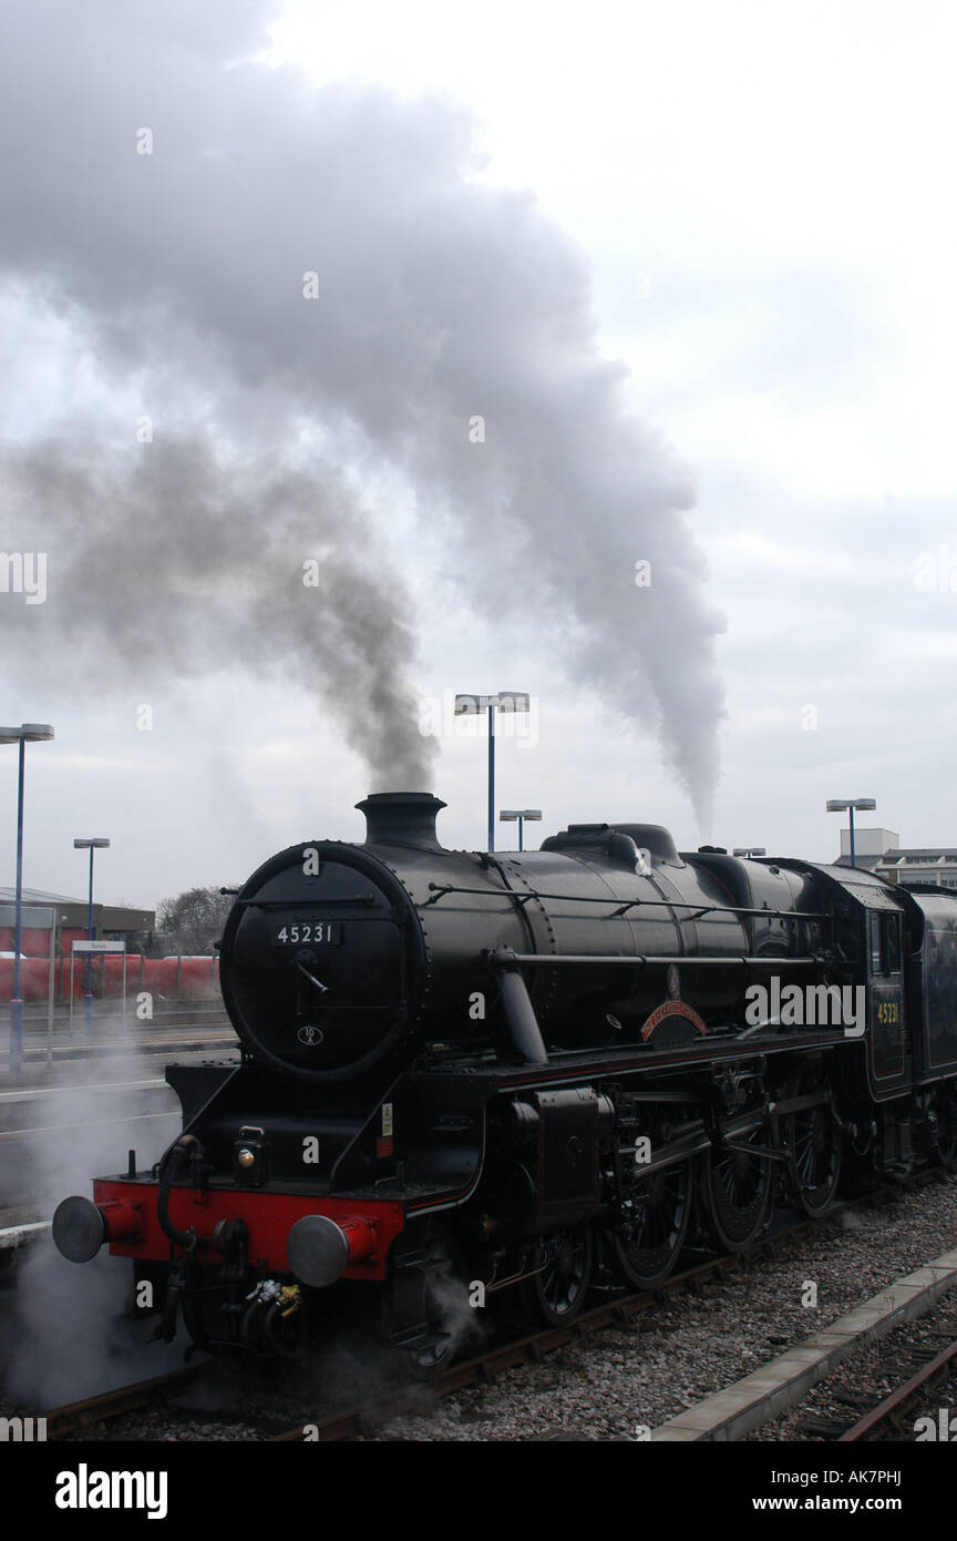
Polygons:
M289 1351L365 1285L420 1373L448 1291L546 1322L655 1287L689 1237L957 1157L957 895L799 860L679 855L651 824L445 849L429 794L357 804L237 894L220 982L242 1057L171 1065L183 1133L69 1197L206 1348ZM478 1288L475 1288L478 1287Z

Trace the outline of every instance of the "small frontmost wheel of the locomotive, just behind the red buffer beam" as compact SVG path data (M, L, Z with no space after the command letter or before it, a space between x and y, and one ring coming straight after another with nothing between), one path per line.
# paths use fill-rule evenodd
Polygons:
M400 1373L431 1381L448 1370L475 1325L465 1281L465 1259L443 1233L429 1237L392 1277L382 1325Z

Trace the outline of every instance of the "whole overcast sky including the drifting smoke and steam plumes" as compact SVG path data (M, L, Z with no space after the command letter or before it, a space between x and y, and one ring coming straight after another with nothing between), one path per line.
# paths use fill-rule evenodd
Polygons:
M955 31L8 3L0 550L48 579L0 592L0 717L57 732L25 881L82 892L106 835L97 897L152 906L412 777L480 848L455 690L531 692L497 803L540 832L829 860L825 800L875 797L957 844Z

